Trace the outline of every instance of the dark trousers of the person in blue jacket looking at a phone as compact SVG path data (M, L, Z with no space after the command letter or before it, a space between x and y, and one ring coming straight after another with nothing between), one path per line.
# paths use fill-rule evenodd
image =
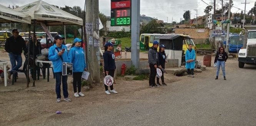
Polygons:
M64 98L68 97L68 76L62 76L62 72L57 72L55 74L55 79L56 79L56 86L55 86L55 92L57 95L57 99L60 99L62 96L60 95L60 85L62 82L62 90L63 90L63 95Z

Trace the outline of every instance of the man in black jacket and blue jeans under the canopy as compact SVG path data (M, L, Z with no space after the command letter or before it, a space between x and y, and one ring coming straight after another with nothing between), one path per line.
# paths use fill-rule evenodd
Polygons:
M18 29L12 30L12 37L6 39L5 51L9 53L12 69L8 71L8 78L11 79L13 71L18 70L22 66L22 50L27 53L25 40L19 36ZM16 64L17 61L17 64Z

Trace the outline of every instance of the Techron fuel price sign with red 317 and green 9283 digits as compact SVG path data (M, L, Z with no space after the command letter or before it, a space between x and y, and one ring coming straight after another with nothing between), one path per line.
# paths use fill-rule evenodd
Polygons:
M111 26L131 25L131 0L111 0Z

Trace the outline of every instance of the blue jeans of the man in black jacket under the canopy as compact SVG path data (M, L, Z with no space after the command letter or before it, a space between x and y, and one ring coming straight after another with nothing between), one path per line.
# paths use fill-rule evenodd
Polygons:
M21 55L16 55L13 53L9 53L9 57L12 65L12 69L10 73L12 73L13 71L18 70L22 66L22 57ZM17 65L16 65L16 61L17 61Z

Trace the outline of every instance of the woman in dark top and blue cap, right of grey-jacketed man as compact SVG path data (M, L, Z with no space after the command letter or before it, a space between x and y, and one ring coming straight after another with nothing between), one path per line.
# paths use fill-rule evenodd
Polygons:
M165 45L160 45L158 57L159 57L159 68L165 69L165 63L167 62L166 61L167 57L165 54ZM161 81L162 81L162 84L160 84L159 78L156 77L156 84L166 86L165 81L164 81L163 71L162 71Z

